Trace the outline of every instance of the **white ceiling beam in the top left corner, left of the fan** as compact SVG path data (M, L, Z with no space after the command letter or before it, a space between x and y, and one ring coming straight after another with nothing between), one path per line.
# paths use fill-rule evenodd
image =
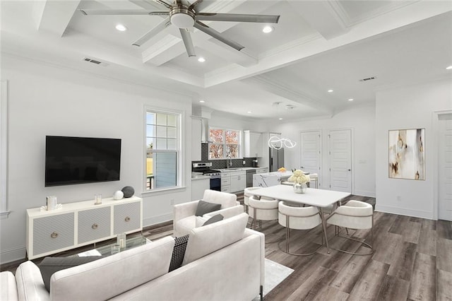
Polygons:
M37 16L34 18L37 20L38 30L46 30L62 37L80 2L81 0L36 0L34 13Z

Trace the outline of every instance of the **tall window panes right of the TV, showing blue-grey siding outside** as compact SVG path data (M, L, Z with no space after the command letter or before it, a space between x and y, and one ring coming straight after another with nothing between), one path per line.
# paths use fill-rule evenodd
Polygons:
M182 115L146 111L146 191L179 186Z

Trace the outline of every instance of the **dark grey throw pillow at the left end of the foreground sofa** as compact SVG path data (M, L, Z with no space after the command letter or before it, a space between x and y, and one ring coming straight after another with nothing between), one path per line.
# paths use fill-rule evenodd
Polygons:
M45 257L39 264L39 268L46 290L50 291L50 277L53 275L53 273L64 270L65 268L71 268L73 266L86 264L87 262L101 258L102 256Z

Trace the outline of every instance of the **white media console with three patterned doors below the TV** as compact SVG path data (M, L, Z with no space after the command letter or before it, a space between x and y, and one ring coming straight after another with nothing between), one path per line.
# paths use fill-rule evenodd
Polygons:
M102 199L64 203L62 208L27 210L27 255L35 259L93 244L119 233L143 230L143 199Z

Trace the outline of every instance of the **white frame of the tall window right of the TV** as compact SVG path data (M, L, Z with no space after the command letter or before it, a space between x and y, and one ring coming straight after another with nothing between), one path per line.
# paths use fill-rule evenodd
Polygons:
M177 119L176 126L176 148L169 150L155 150L155 153L176 153L176 185L170 187L162 187L155 189L147 189L147 156L148 156L148 113L155 114L173 114ZM161 191L172 191L174 189L182 189L184 187L184 152L182 149L182 141L185 136L184 124L185 124L185 114L181 110L172 110L167 108L153 107L145 105L143 114L143 194L155 194Z

